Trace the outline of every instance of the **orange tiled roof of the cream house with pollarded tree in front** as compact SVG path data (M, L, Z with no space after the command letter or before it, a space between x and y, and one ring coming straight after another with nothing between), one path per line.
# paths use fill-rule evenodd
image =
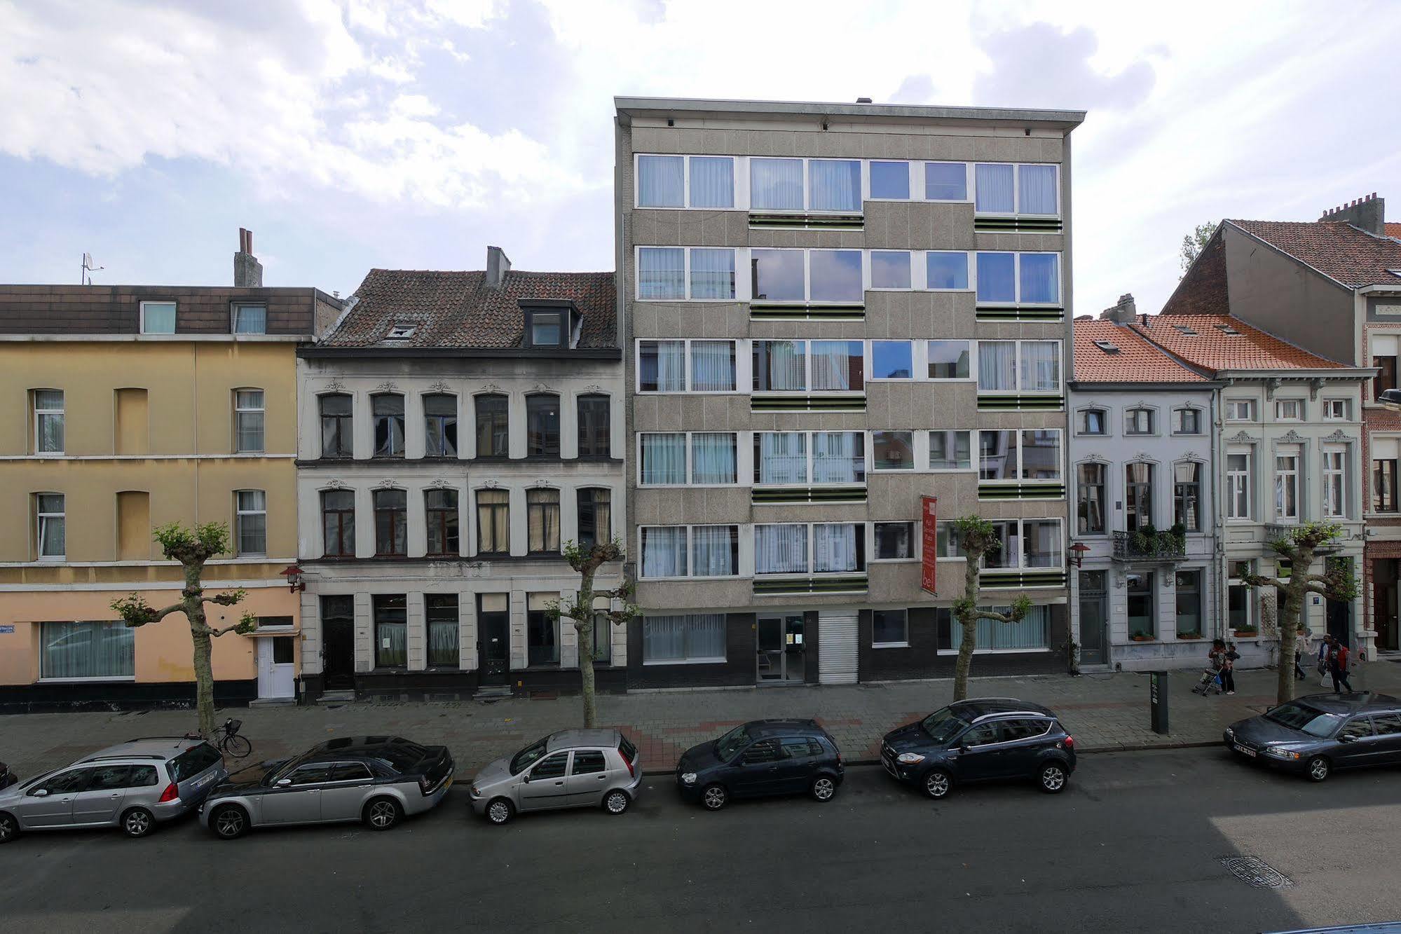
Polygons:
M1346 368L1346 364L1311 354L1231 315L1149 315L1147 322L1147 328L1136 323L1133 329L1203 370ZM1222 330L1223 326L1237 333L1230 335ZM1195 333L1184 333L1178 328Z

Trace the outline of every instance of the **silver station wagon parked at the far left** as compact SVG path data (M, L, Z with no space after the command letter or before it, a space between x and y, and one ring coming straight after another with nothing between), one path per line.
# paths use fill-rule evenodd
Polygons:
M143 837L198 807L228 773L199 737L146 737L108 746L0 790L0 843L22 830L119 826Z

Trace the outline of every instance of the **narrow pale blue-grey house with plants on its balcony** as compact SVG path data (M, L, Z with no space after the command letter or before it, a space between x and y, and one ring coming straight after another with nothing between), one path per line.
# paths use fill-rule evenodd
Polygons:
M1131 325L1075 322L1070 633L1086 671L1191 668L1223 636L1217 389Z

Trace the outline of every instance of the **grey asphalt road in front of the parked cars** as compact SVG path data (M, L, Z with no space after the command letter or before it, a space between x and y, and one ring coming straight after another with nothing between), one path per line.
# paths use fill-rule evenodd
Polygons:
M1323 786L1217 749L1082 756L1061 795L960 788L933 804L876 767L806 798L682 805L649 779L623 816L492 828L465 788L388 833L221 842L28 835L0 849L13 931L1278 931L1401 919L1401 769ZM1222 857L1292 886L1259 889Z

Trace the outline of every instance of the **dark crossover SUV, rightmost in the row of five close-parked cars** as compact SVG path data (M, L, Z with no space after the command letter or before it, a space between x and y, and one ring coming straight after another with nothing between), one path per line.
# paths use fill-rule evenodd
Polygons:
M1017 779L1056 794L1075 772L1075 738L1041 704L978 697L887 732L880 760L892 777L930 798L962 783Z

